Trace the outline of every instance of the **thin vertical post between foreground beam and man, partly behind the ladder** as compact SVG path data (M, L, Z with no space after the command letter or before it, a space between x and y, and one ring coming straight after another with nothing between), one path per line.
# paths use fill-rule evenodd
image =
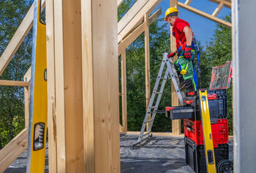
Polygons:
M148 104L150 102L150 56L149 56L149 24L148 24L148 14L144 15L144 33L145 33L145 94L146 94L146 111L148 109ZM151 115L148 116L151 119ZM147 123L148 130L149 123Z

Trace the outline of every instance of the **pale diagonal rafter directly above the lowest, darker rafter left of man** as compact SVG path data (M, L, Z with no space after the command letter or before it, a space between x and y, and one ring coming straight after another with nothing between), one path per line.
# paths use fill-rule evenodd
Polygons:
M162 0L150 0L148 1L143 8L134 16L134 18L127 24L124 29L118 32L118 43L123 40L123 38L131 31L136 24L144 17L145 13L148 13L150 10L154 10L156 6L161 3ZM118 22L119 23L119 22ZM119 30L118 30L119 31Z

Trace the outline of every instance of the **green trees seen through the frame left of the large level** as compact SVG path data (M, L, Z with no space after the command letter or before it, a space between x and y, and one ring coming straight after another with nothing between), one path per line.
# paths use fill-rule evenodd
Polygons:
M31 2L30 2L31 3ZM0 54L23 20L30 4L25 0L0 1ZM0 79L23 80L31 61L31 32L24 39ZM23 87L0 87L0 149L24 128Z

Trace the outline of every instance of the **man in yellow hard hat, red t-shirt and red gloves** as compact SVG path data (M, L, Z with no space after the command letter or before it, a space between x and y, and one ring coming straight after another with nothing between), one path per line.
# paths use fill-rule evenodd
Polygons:
M164 20L173 28L172 34L176 38L177 49L168 55L173 57L177 54L179 57L174 65L180 79L180 90L186 89L188 92L196 91L197 84L195 82L193 60L195 58L195 50L192 47L193 31L189 23L179 19L179 11L177 8L168 8L165 12Z

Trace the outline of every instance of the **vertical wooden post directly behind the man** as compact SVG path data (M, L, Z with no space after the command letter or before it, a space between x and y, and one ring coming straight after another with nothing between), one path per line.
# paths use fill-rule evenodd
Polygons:
M174 7L174 6L177 8L177 0L170 0L170 7ZM171 51L173 52L176 50L176 40L174 36L172 36L172 26L171 26L170 43L171 43ZM177 56L173 57L173 62L175 62L177 58L178 58ZM179 98L175 91L175 87L173 86L173 83L172 83L172 106L179 106ZM172 133L174 135L180 134L180 119L176 119L172 121Z

